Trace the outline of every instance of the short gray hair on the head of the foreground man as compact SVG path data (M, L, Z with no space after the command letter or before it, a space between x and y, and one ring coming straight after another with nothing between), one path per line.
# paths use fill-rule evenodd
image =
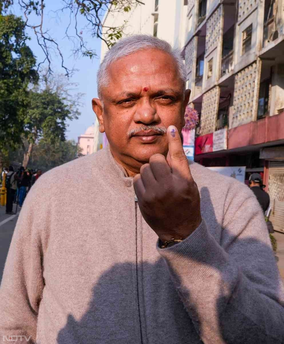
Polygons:
M149 48L162 50L173 57L178 66L179 77L185 86L186 69L178 49L174 49L168 42L154 36L132 35L119 40L113 47L111 47L110 50L105 54L102 63L99 65L97 72L97 86L98 96L100 99L102 98L102 88L109 85L107 68L111 65L111 63L115 62L121 57L128 56L139 50Z

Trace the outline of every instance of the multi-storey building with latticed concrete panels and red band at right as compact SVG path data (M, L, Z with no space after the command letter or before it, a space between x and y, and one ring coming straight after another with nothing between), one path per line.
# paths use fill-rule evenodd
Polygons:
M284 232L284 0L189 0L186 32L194 160L261 173Z

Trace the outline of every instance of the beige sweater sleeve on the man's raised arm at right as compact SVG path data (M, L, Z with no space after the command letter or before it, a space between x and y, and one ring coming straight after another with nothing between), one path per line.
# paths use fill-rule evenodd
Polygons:
M262 210L252 194L233 203L220 242L203 219L181 243L157 249L205 344L283 343L283 284Z

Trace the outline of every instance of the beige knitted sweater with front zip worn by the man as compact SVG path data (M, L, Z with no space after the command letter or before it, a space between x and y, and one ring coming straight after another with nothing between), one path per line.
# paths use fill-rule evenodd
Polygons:
M255 196L233 178L190 168L203 221L166 249L109 149L45 173L12 238L0 339L283 343L283 285Z

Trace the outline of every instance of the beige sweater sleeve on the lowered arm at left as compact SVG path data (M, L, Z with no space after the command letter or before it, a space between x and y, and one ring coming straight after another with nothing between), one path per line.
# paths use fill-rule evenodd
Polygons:
M29 338L28 343L36 340L37 314L44 288L40 232L46 215L39 202L42 200L35 186L25 199L14 229L0 287L0 337L22 335ZM26 342L26 338L21 341Z

